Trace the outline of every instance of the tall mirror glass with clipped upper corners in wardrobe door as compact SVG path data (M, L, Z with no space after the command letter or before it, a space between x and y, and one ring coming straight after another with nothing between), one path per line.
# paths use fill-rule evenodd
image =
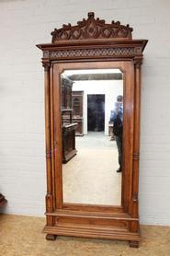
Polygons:
M123 74L61 74L63 203L121 204Z

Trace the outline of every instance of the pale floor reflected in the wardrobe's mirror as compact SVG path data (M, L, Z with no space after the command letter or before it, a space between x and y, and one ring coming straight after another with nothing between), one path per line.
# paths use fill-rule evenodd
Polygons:
M63 202L120 205L121 173L115 141L102 132L75 140L77 155L62 165Z

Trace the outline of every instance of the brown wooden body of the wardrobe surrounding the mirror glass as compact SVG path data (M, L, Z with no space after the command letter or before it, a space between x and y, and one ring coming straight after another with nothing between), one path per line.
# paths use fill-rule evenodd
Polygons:
M47 239L56 235L128 240L138 247L140 88L146 40L132 40L132 29L106 24L89 13L76 26L54 29L52 43L37 45L45 68L47 162ZM63 204L60 74L64 69L119 68L124 74L123 171L120 206Z

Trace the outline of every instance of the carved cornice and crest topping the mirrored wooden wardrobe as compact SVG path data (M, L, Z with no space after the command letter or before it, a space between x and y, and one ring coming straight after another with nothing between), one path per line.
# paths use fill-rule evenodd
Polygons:
M42 63L48 70L51 61L80 59L129 59L142 62L146 40L132 40L132 28L119 21L106 23L93 12L76 26L62 25L51 32L52 43L37 45L43 51Z

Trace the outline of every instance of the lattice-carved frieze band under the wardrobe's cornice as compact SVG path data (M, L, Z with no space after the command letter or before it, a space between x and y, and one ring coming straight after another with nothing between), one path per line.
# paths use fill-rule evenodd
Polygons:
M49 53L50 58L85 58L85 57L132 57L134 56L133 47L119 48L92 48L92 49L74 49L74 50L59 50Z

